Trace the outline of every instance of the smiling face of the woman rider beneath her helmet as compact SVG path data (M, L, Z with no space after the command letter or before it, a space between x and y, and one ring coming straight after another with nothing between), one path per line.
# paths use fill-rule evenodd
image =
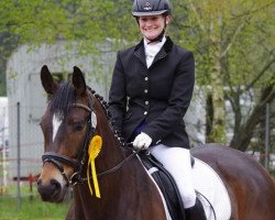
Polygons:
M166 16L165 19L165 16L162 14L139 18L141 33L147 40L157 37L162 33L165 22L168 24L169 16Z

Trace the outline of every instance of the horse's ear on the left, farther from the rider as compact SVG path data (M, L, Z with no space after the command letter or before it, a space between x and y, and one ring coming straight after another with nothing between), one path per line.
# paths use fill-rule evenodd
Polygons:
M57 84L54 82L53 76L50 73L46 65L41 68L41 82L45 91L50 95L53 95L57 89Z

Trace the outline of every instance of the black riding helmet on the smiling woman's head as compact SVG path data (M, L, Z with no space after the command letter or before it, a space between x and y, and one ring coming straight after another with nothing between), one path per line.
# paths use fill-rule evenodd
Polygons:
M169 14L168 0L134 0L132 7L133 16Z

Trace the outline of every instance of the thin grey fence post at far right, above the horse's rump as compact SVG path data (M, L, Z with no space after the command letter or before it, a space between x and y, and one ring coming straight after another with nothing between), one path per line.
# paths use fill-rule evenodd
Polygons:
M268 168L270 161L270 103L265 106L265 138L264 138L264 167Z

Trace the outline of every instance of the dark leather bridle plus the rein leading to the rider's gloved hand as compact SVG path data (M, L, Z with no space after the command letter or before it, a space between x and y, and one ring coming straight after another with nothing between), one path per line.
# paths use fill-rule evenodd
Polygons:
M74 108L81 108L81 109L88 111L91 116L94 113L95 109L92 108L90 99L89 99L89 106L85 106L81 103L73 103L72 105L72 107L74 107ZM91 119L91 117L90 117L90 119ZM84 145L82 145L81 151L80 151L79 155L77 156L77 158L70 158L68 156L65 156L65 155L62 155L62 154L55 153L55 152L45 152L42 155L43 164L45 164L46 162L54 164L56 166L56 168L61 172L64 179L66 180L66 186L75 186L77 184L87 182L87 177L81 177L81 174L82 174L84 165L85 165L86 158L87 158L88 144L89 144L90 139L95 134L95 130L96 130L96 128L92 127L91 120L89 120L85 142L84 142ZM127 145L130 145L130 144L131 143L129 143ZM112 167L106 172L98 174L97 176L103 177L103 176L107 176L109 174L116 173L128 161L132 160L136 154L139 154L140 151L141 150L133 151L132 154L130 154L128 157L125 157L123 161L121 161L118 165L116 165L114 167ZM72 175L70 178L68 178L67 174L65 173L63 164L66 164L70 167L73 167L74 174Z

